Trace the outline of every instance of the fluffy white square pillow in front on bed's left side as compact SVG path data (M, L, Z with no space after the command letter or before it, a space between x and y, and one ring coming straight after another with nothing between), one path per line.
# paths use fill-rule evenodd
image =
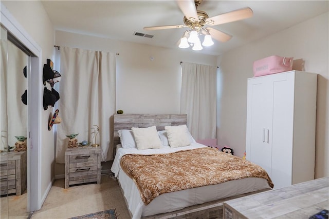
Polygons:
M162 148L161 140L155 126L148 128L132 128L139 150Z

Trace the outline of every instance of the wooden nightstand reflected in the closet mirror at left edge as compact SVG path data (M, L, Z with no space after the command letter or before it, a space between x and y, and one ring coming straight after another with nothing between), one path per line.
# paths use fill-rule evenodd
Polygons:
M2 152L0 162L1 195L21 195L27 188L27 151Z

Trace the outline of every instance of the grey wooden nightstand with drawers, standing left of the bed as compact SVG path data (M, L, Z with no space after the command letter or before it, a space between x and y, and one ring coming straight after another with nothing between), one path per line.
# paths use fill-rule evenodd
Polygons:
M101 148L78 147L65 151L65 189L82 183L101 183Z

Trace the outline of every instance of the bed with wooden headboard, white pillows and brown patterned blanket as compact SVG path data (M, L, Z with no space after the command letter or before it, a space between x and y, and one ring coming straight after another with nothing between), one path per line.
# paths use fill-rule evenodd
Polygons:
M218 157L220 156L223 158L223 160L227 159L229 162L237 160L242 164L242 166L244 166L244 162L247 161L242 160L241 158L237 158L236 156L225 154L208 146L198 144L195 142L192 136L186 136L188 138L188 141L190 141L189 145L184 147L171 147L174 146L174 142L169 141L170 143L172 143L172 145L170 144L171 146L169 146L169 143L164 142L165 140L163 140L163 136L160 134L160 137L158 135L158 138L160 138L161 147L143 149L137 148L136 146L127 147L127 143L130 142L126 141L127 138L125 135L123 135L123 130L124 133L129 133L129 131L130 133L132 133L133 128L135 132L134 134L132 134L132 136L135 137L134 140L137 144L140 143L140 139L138 138L140 135L137 131L145 131L145 129L149 129L152 127L152 131L154 132L155 126L158 134L160 132L165 132L168 134L167 138L173 140L172 136L174 135L172 135L171 133L172 130L174 130L175 134L178 130L178 127L186 127L186 124L186 114L114 115L114 143L116 145L116 154L111 171L115 174L115 177L118 180L118 183L122 190L122 194L125 198L127 208L129 209L132 218L196 218L198 216L202 216L203 218L221 218L222 205L225 200L261 191L266 191L273 187L271 180L266 172L262 172L262 175L267 175L267 178L253 176L253 173L251 175L250 173L248 173L248 175L250 175L251 177L237 177L235 180L227 180L226 176L221 176L217 177L216 179L213 179L211 176L212 173L210 173L212 172L211 170L209 171L210 176L200 174L200 172L198 172L199 166L214 169L220 168L220 166L218 166L217 164L219 162L210 161L211 159L217 159L216 161L219 161ZM136 127L138 127L139 129ZM181 138L184 138L184 136ZM150 140L150 142L152 141L153 140ZM122 144L124 145L124 147L122 147ZM156 143L152 144L155 145ZM199 155L193 155L195 153L198 153ZM198 157L203 157L205 154L209 154L209 156L215 157L207 158L206 160L210 159L208 163L206 162L206 160L202 162L205 165L192 165L192 163L196 162L193 160L193 157L195 157L195 159L202 159ZM154 160L155 157L157 157L157 161ZM172 162L176 161L176 165L173 165ZM185 165L189 166L191 171L181 171L180 167L184 166L183 164L187 163L187 161L191 161L190 166L189 164ZM145 163L148 163L148 165L145 165L148 168L138 169L138 167L142 167L142 165ZM165 166L165 163L168 163L170 165ZM212 164L215 166L212 167ZM157 170L152 169L156 168L156 166L162 167L162 171L163 169L167 171L159 172L156 174ZM173 179L168 180L168 175L173 175L173 172L175 172L177 169L180 171L180 174L184 172L184 174L188 175L177 176L177 174L174 174L176 178L173 183ZM156 188L155 190L148 190L149 181L154 180L153 178L152 180L144 180L145 174L149 173L141 173L141 171L149 171L154 173L154 175L158 175L158 177L154 176L154 178L158 178L159 182L152 182L155 183L157 186L151 186L153 189ZM208 173L208 171L202 171ZM196 176L190 176L194 174L194 172L197 173L197 177L199 175L202 175L200 177L203 178L201 181L197 181L197 185L193 186L192 184L194 181L187 181L184 179L187 179L189 177L194 179ZM239 172L239 174L241 174L241 172ZM133 179L132 177L134 176L136 176L136 178ZM215 180L219 180L221 183L217 183L217 181ZM204 181L207 182L205 183ZM169 184L171 183L170 186L166 187L162 185L166 182ZM181 184L181 182L185 182L185 189L176 188L175 184ZM165 187L166 189L162 189ZM145 188L147 189L142 190ZM158 188L160 188L160 190ZM162 191L161 189L165 191Z

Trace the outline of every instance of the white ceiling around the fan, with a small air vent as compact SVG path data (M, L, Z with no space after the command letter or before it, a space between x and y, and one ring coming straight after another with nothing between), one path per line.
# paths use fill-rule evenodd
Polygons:
M184 14L176 1L42 1L56 30L94 35L121 41L142 43L167 48L178 48L187 28L145 31L143 27L184 25ZM214 41L200 51L220 55L230 49L256 41L289 28L329 10L329 1L210 1L198 7L209 17L250 7L251 18L212 26L232 35L226 43ZM154 35L147 38L134 32ZM307 30L305 30L307 34ZM181 49L180 49L181 50Z

